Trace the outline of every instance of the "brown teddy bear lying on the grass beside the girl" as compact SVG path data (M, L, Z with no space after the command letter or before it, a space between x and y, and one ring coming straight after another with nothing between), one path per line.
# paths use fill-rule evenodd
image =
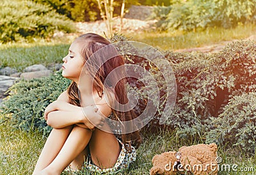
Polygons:
M178 152L169 151L152 158L150 174L218 174L217 145L182 146Z

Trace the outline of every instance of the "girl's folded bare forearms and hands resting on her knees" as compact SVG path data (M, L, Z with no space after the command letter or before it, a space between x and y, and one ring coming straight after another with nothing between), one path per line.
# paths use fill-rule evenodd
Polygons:
M48 109L45 109L45 119L47 120L47 125L52 126L52 128L63 128L77 124L83 128L93 129L95 126L103 125L104 117L111 112L111 108L108 105L96 105L96 107L93 105L82 109L71 105L68 103L68 96L65 91L61 93L58 100L51 103L47 107Z

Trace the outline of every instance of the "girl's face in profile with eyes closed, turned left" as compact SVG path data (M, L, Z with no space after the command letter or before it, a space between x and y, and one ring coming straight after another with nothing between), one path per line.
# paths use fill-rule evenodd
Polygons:
M81 71L83 70L84 61L80 54L81 46L78 42L73 42L69 49L68 55L63 57L62 76L78 82Z

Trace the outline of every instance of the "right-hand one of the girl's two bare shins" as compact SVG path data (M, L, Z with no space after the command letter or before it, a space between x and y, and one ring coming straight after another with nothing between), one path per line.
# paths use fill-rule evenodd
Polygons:
M60 153L43 169L42 174L60 174L86 148L91 136L91 130L74 126Z

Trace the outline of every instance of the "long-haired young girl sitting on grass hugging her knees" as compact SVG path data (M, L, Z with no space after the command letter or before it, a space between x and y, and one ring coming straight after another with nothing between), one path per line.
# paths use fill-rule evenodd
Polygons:
M111 71L124 67L124 58L120 55L104 63L106 56L95 54L106 46L110 48L106 54L117 52L108 40L93 33L79 36L70 45L68 55L63 58L62 75L72 83L45 109L44 117L52 131L33 174L61 174L65 168L77 171L83 166L91 172L115 172L129 167L135 160L134 148L141 141L138 131L118 137L100 129L106 125L106 118L121 122L136 118L133 110L123 112L109 106L115 100L125 104L128 98L127 80L120 79L125 77L125 71L114 72L105 82Z

